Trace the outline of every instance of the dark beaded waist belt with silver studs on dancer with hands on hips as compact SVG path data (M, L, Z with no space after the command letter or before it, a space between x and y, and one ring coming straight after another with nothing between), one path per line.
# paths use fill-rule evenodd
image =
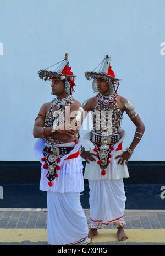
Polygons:
M120 140L120 134L110 135L110 136L101 136L101 135L92 135L92 142L96 144L114 144Z

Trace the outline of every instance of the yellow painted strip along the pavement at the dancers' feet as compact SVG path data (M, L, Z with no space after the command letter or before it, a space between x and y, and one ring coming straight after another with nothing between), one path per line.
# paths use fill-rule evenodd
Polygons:
M125 229L128 239L125 242L152 242L165 243L165 229ZM0 242L31 242L47 241L47 229L0 229ZM94 242L113 242L117 241L116 229L101 229Z

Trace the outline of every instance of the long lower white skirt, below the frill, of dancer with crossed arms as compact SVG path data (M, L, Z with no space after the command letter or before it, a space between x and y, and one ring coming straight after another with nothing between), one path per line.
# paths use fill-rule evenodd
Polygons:
M47 192L47 236L51 245L85 243L89 241L85 213L79 192Z

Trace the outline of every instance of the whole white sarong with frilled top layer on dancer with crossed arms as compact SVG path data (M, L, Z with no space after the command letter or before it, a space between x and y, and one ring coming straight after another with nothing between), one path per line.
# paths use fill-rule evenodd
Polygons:
M48 186L47 170L43 169L41 158L45 148L45 140L35 143L35 155L42 163L40 190L47 191L48 222L47 234L49 244L76 244L89 242L85 213L80 203L80 192L84 191L83 164L80 155L66 159L81 148L81 141L63 143L57 147L74 147L69 154L62 156L58 165L58 177L52 187Z

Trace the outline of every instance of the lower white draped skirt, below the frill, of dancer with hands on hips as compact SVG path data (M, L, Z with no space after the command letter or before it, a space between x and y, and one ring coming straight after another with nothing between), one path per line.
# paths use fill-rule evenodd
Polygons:
M124 226L125 196L123 179L89 180L90 188L90 224L108 225L116 223Z

